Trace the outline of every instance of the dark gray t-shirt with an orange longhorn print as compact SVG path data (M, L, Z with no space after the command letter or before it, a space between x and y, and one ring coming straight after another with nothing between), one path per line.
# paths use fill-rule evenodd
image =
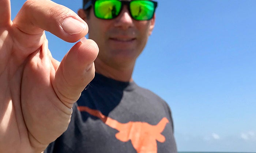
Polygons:
M95 74L45 153L177 153L169 106L135 82Z

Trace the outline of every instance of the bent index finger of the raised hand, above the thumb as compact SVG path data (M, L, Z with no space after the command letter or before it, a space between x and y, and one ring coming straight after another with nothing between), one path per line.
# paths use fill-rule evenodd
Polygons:
M74 11L50 0L27 0L13 23L26 34L46 30L67 42L76 42L88 32L86 22Z

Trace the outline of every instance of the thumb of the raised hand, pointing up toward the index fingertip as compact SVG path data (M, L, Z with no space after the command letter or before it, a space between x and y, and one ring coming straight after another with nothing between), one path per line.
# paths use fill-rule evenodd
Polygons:
M71 108L81 92L94 78L94 60L98 46L91 40L82 38L64 56L56 71L53 88L59 99Z

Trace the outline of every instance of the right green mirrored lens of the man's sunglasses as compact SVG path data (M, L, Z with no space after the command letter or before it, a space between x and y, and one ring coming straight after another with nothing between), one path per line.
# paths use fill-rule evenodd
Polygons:
M149 0L133 0L130 9L135 20L150 20L154 15L155 5Z

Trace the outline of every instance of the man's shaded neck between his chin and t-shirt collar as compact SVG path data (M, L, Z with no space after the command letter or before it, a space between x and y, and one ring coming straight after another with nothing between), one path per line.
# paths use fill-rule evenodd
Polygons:
M96 59L94 61L95 64L95 72L104 75L108 78L117 80L117 81L123 81L123 82L132 82L132 72L134 68L134 64L126 67L121 67L120 65L114 65L110 66L109 64L106 64L102 62L100 59Z

